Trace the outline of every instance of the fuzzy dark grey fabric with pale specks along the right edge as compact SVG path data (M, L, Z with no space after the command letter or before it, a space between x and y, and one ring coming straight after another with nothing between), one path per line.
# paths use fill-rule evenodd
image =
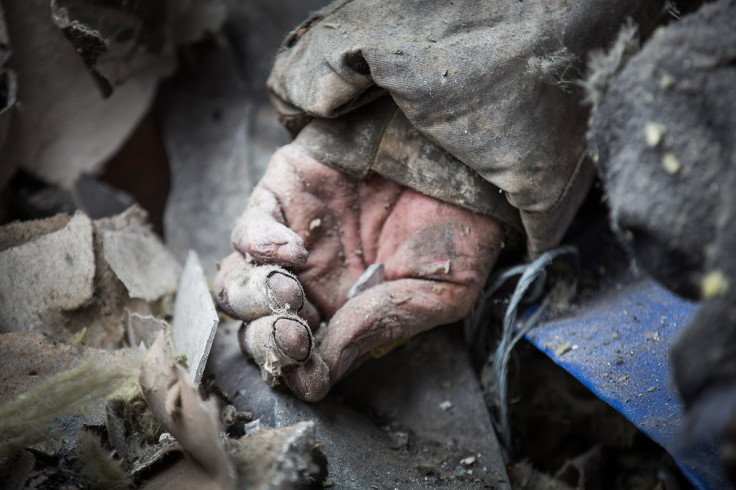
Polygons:
M726 278L673 348L683 397L736 383L736 1L655 33L593 111L589 141L639 265L691 299L708 273Z

